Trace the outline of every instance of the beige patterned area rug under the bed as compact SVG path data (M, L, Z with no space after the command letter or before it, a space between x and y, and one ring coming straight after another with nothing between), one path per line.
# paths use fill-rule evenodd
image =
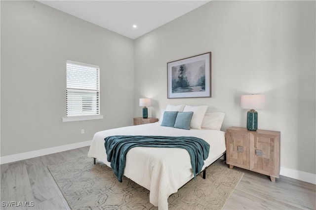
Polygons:
M157 210L149 191L123 176L118 182L113 170L93 159L80 157L48 166L72 210ZM221 210L243 173L216 164L192 179L168 198L170 210Z

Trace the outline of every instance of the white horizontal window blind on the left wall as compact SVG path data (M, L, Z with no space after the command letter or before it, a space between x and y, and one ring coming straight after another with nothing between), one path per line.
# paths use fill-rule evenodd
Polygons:
M99 66L67 60L67 117L98 114Z

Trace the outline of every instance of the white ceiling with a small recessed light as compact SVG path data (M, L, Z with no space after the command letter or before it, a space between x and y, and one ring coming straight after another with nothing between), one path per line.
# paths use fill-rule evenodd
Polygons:
M135 39L209 0L39 0L39 2ZM137 28L133 28L133 25Z

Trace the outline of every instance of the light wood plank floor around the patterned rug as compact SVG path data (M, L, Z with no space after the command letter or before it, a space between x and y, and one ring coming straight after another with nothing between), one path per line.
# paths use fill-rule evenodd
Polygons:
M87 155L89 147L45 155L1 165L0 209L2 202L33 201L34 207L17 210L67 210L62 196L47 165ZM225 165L222 160L218 163ZM91 159L92 164L92 159ZM316 209L316 185L281 176L273 183L266 175L234 167L244 175L227 201L224 210L296 210ZM207 175L207 172L206 172ZM9 208L14 209L14 208Z

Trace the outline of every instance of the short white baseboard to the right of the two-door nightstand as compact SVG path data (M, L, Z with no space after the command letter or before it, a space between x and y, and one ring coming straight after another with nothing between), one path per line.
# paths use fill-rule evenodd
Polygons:
M316 174L297 171L294 169L280 168L280 175L284 175L290 178L295 178L301 181L306 181L312 184L316 184Z

